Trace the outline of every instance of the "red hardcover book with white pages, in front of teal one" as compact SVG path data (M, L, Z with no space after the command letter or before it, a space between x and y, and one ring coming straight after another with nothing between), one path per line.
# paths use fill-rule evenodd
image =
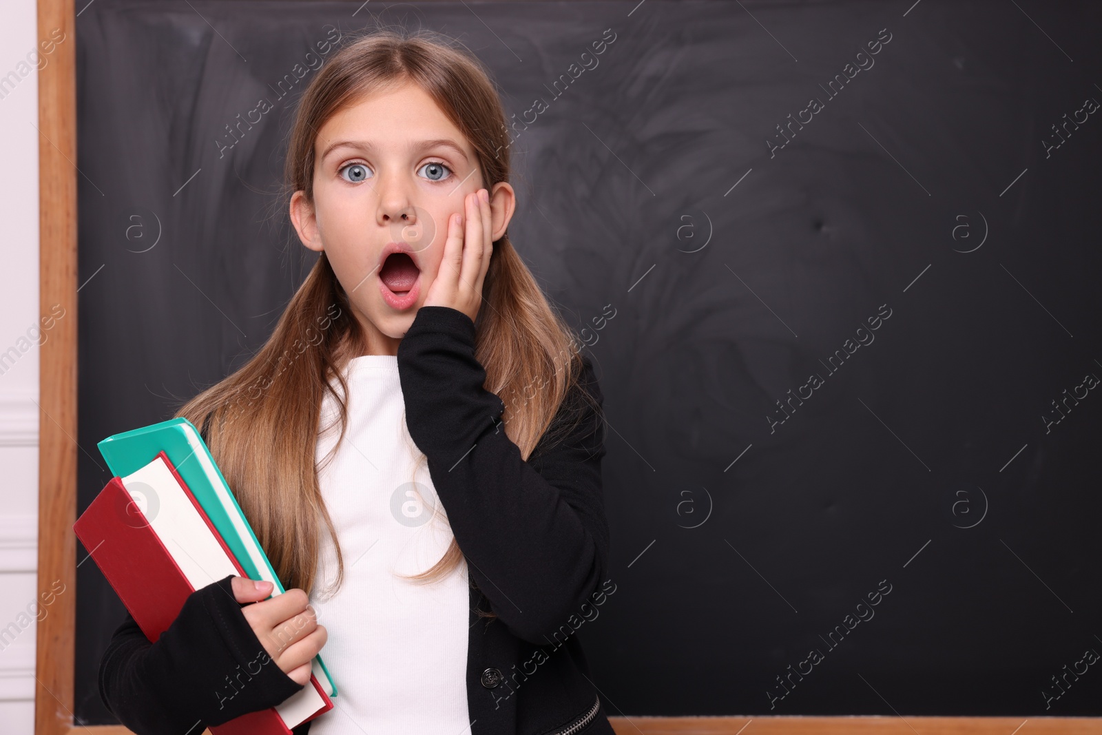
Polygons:
M172 625L192 592L227 574L248 576L164 452L126 483L114 477L73 530L151 642ZM291 735L291 727L333 709L313 674L310 684L278 706L210 732Z

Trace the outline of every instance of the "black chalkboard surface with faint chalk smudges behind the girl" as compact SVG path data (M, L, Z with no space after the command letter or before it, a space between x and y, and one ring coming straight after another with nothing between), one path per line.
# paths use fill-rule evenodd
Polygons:
M510 237L606 396L611 714L1102 714L1091 2L97 0L78 511L96 442L309 270L291 114L376 19L460 37L517 121ZM78 722L122 616L84 564Z

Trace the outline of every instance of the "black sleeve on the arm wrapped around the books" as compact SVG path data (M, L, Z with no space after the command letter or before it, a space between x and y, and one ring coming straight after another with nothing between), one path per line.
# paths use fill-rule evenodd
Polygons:
M231 580L188 595L150 642L129 613L99 664L99 695L138 735L199 735L302 689L268 657L234 597Z

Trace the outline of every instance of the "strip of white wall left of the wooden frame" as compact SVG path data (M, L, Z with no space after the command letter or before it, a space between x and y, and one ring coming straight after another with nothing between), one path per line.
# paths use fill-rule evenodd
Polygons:
M0 6L0 723L34 732L39 528L35 0ZM28 63L28 54L32 54ZM47 62L48 63L48 62ZM31 329L31 337L28 331ZM28 614L30 610L30 614Z

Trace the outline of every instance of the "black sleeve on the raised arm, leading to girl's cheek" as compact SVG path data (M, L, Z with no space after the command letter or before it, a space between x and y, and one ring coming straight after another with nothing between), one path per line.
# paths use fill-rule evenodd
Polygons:
M587 357L583 364L582 385L603 404ZM469 575L514 635L551 642L608 566L603 419L572 393L531 462L522 460L500 421L505 403L484 388L474 322L449 306L418 310L398 367L407 428L428 457ZM581 421L561 442L545 442L575 406Z

